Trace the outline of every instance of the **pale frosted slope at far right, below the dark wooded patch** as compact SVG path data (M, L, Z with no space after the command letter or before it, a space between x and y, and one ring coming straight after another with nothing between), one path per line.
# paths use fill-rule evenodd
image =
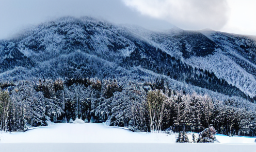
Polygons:
M216 52L213 55L207 55L205 57L193 56L185 62L195 67L214 72L219 79L226 80L231 85L246 92L251 98L256 95L255 75L248 73L221 52Z

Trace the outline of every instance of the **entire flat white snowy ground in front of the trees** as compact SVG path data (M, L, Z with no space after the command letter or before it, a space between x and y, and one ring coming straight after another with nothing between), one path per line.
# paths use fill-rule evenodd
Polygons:
M50 124L0 134L0 151L256 151L255 138L216 138L220 143L175 143L175 135L132 132L104 124Z

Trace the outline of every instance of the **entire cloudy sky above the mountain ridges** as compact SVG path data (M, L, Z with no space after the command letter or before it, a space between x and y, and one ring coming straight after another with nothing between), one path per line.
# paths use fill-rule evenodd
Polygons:
M156 30L256 35L256 0L0 0L0 39L57 17L88 15Z

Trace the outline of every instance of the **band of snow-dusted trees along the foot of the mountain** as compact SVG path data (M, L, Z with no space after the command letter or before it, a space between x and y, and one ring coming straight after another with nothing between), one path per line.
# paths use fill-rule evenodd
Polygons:
M2 84L13 86L14 84ZM9 87L11 88L11 87ZM56 79L21 81L0 92L1 130L85 122L128 127L132 131L200 132L213 124L218 134L255 136L256 113L232 100L172 90L164 79L120 82L117 79Z

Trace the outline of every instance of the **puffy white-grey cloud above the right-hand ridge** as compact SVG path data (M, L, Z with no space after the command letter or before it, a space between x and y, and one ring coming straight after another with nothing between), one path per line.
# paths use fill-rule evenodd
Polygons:
M159 18L182 29L219 30L228 21L226 0L123 0L143 15Z

